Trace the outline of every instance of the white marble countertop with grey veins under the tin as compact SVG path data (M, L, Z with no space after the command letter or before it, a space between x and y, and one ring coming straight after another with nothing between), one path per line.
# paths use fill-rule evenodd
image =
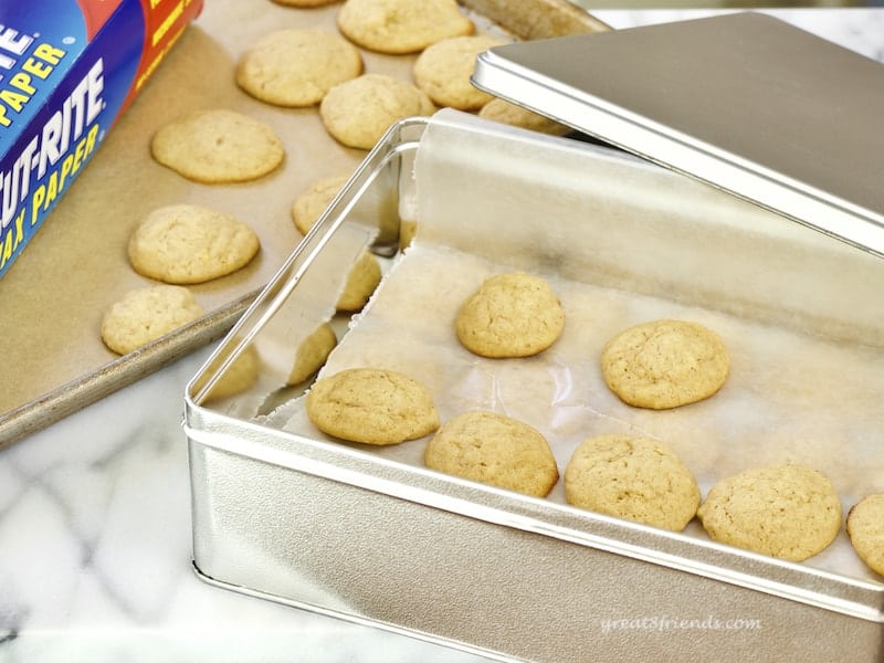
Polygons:
M594 12L614 28L705 13ZM884 10L779 10L884 61ZM204 585L183 388L208 349L0 452L0 661L476 661Z

